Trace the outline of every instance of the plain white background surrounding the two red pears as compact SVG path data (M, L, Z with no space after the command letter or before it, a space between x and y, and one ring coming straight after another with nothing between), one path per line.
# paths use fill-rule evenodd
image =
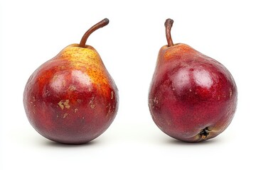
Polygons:
M1 1L0 169L255 169L255 2ZM23 110L32 72L93 24L110 24L87 40L119 89L119 111L87 145L60 145L39 135ZM156 127L147 95L156 57L174 42L223 63L238 86L238 109L227 130L201 143L178 142Z

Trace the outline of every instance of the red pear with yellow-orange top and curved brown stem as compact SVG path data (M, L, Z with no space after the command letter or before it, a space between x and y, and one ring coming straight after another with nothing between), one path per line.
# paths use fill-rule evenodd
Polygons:
M33 128L65 144L94 140L110 126L118 109L118 89L99 53L86 45L89 35L107 26L103 19L42 64L29 77L23 105Z

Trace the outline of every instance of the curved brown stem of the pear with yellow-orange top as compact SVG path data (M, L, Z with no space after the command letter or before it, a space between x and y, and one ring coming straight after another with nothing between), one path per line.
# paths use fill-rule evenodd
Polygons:
M95 30L102 28L104 26L107 26L107 24L110 23L109 19L105 18L99 23L96 23L94 26L92 26L89 30L86 31L86 33L82 36L82 39L80 41L80 47L85 47L85 43L87 41L87 38L93 33Z

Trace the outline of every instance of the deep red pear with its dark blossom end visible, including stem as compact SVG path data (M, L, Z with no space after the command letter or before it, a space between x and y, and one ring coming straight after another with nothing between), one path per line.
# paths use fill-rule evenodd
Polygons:
M149 88L149 111L167 135L185 142L209 140L230 125L238 103L233 76L220 62L171 39L159 50Z

